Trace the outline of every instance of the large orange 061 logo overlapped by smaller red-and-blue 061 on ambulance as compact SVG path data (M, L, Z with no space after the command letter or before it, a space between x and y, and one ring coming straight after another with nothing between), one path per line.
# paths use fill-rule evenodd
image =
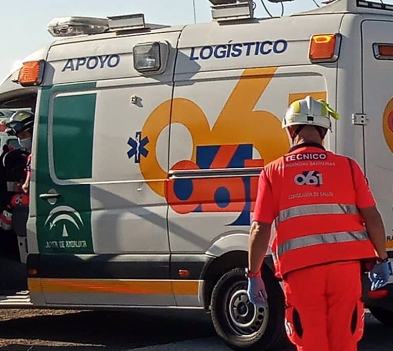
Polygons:
M180 123L188 129L191 158L172 165L172 170L259 167L282 156L290 143L287 132L281 129L280 119L271 112L254 109L276 71L275 67L245 70L212 126L202 108L186 98L165 101L148 117L142 135L148 136L149 157L141 159L141 173L149 187L165 197L175 212L240 212L234 224L249 224L257 177L170 180L168 172L159 164L157 141L171 123ZM326 97L325 92L296 93L290 94L288 102L307 95ZM213 96L209 103L214 103ZM282 113L285 107L284 104ZM258 151L260 159L253 159L253 149Z

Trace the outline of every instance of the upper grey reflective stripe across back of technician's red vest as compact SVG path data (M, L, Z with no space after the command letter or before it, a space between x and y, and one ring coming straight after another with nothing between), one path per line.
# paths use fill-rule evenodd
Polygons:
M315 204L287 208L279 212L275 219L276 225L290 218L308 216L313 214L359 214L355 205L343 204Z

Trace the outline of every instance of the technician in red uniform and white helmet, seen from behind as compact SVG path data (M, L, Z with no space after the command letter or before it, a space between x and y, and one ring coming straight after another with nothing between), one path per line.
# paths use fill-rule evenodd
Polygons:
M293 147L261 172L250 230L248 296L267 305L260 267L274 222L286 330L302 351L356 350L364 325L360 260L378 257L373 289L389 278L384 226L360 166L322 146L330 117L339 118L310 96L290 105L282 127Z

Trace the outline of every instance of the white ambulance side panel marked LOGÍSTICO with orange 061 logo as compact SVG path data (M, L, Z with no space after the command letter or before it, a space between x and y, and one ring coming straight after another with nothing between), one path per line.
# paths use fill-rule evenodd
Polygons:
M306 95L335 107L337 63L308 58L309 28L338 32L342 15L331 18L328 25L311 17L307 29L300 18L280 18L279 26L272 19L183 30L167 187L172 257L247 251L260 168L290 147L281 129L286 108ZM326 147L335 147L335 126Z

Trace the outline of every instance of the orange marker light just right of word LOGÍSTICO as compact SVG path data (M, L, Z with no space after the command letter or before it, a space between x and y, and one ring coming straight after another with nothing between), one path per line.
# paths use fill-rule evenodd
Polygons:
M338 59L339 34L318 34L311 37L309 58L311 62L334 62Z

